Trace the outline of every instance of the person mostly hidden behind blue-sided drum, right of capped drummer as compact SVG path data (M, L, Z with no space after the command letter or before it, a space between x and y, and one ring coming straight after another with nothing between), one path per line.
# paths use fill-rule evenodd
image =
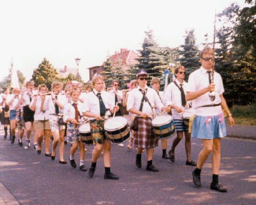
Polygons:
M159 96L160 100L162 101L162 98L163 98L163 92L162 91L159 91L159 88L160 88L160 79L157 78L157 77L154 77L152 78L151 82L150 82L152 88L157 92L157 95ZM162 101L163 102L163 101ZM155 111L156 113L159 113L161 112L160 110L158 110L156 107L155 107ZM168 142L168 139L161 139L161 146L162 146L162 158L164 159L170 159L167 154L166 154L166 149L167 149L167 142Z

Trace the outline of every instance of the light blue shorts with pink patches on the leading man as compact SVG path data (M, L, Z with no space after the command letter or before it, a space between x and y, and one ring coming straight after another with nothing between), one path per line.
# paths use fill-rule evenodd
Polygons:
M223 113L214 116L196 115L193 121L191 137L199 139L222 138L227 135Z

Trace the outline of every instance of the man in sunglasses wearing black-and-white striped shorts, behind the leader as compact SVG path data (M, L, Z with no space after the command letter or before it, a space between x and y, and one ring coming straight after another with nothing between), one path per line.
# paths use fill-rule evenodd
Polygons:
M172 116L177 132L177 137L173 140L172 149L169 151L169 157L172 162L175 162L174 150L183 138L184 132L185 150L187 154L186 165L196 166L196 163L191 160L191 134L188 133L188 126L185 125L184 119L182 118L182 112L184 112L185 107L187 107L185 99L187 83L184 81L185 68L183 66L176 67L174 75L176 79L167 86L165 98L163 99L164 105L171 105L172 107Z

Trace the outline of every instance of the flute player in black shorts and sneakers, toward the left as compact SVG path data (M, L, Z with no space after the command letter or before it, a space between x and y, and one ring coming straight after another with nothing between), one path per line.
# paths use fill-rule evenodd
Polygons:
M30 135L33 129L34 123L34 114L35 112L29 108L29 105L32 101L32 91L34 88L34 81L30 80L26 82L26 91L22 95L22 103L23 103L23 119L25 122L25 129L26 129L26 144L25 149L30 148ZM37 150L37 142L34 140L34 150Z

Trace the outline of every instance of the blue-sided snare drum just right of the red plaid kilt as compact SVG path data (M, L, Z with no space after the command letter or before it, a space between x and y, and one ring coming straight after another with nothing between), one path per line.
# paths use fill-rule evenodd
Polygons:
M172 115L160 115L152 120L153 132L159 139L166 139L175 134Z

